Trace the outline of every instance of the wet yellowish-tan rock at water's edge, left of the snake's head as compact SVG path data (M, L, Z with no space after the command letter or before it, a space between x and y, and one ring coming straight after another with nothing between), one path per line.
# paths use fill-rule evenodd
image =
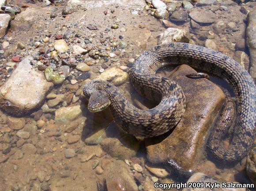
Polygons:
M55 111L54 121L67 123L79 118L82 115L82 107L80 105L72 107L61 107Z

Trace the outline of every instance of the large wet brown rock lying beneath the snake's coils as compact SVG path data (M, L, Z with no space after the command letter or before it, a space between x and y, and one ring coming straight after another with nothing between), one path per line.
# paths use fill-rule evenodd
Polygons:
M196 169L209 129L225 95L217 85L205 78L185 77L195 72L190 66L181 65L170 77L181 85L187 106L181 121L169 136L146 140L147 158L152 163L169 162L185 172Z

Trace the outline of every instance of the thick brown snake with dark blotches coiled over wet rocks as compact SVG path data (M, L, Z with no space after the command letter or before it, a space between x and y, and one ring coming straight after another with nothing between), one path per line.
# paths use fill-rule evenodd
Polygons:
M256 85L238 62L219 51L178 42L156 45L139 55L129 74L136 91L147 99L158 101L157 106L148 110L139 109L115 85L108 81L93 80L83 87L83 94L89 99L88 110L98 112L109 107L117 125L139 138L168 132L182 118L186 99L179 84L169 78L156 76L156 71L173 64L187 64L228 81L237 102L235 111L231 112L236 114L233 136L226 146L222 138L228 132L226 127L229 125L216 125L207 146L217 159L240 161L254 144ZM225 121L225 116L221 119Z

